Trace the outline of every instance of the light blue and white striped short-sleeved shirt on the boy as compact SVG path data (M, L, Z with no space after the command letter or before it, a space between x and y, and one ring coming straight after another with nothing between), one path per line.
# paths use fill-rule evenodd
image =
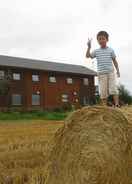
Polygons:
M115 52L110 47L95 49L91 54L91 58L97 59L98 73L110 73L114 70L113 61L116 57Z

